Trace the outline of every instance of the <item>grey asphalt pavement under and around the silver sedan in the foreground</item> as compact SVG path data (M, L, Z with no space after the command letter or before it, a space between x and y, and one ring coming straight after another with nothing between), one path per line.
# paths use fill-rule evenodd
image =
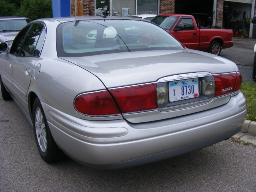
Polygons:
M66 158L47 164L13 101L0 99L1 192L256 191L256 146L225 140L168 160L102 171Z

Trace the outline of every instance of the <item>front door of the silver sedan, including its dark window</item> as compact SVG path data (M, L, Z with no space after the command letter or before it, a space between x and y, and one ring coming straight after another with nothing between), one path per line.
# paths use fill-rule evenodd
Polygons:
M13 63L19 56L20 47L30 27L31 25L28 25L19 32L19 34L14 39L14 42L12 43L10 52L3 52L0 55L1 77L4 81L5 86L7 86L8 90L10 91L12 91Z

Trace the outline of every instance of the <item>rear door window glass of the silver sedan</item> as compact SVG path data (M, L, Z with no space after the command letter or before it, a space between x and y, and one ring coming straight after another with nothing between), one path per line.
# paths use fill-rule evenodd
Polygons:
M40 34L43 30L44 26L40 23L35 23L30 28L28 35L26 36L24 43L22 45L22 49L20 52L20 56L22 57L32 57L34 56L34 52L36 50L36 44L40 37Z

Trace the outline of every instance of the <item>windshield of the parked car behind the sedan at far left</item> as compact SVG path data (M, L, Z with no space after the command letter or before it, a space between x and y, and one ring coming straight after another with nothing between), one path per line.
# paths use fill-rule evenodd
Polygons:
M26 19L0 20L0 31L19 31L28 24Z

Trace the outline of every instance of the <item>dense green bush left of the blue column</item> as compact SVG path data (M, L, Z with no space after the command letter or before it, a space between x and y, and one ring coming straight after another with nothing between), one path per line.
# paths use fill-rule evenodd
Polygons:
M52 17L52 0L22 0L16 16L31 20Z

